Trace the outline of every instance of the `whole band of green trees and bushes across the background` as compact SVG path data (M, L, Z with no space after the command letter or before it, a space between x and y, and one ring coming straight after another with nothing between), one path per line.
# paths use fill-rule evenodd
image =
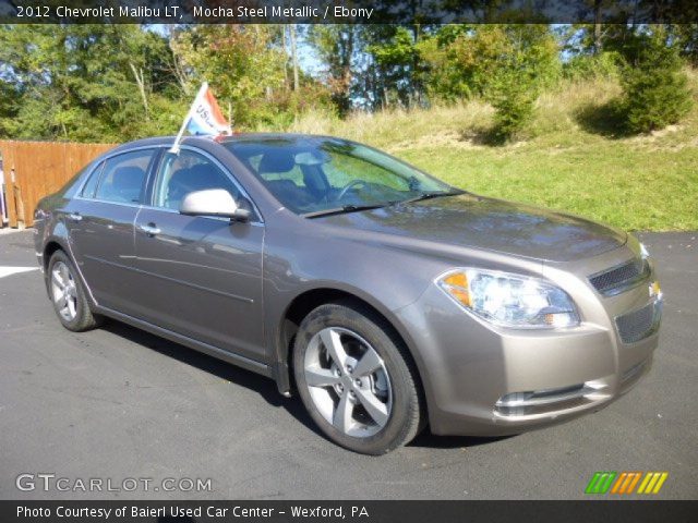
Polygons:
M593 9L611 3L594 1ZM172 134L208 81L237 129L287 127L306 112L333 119L356 109L484 100L494 108L485 134L505 142L534 134L539 96L563 77L621 83L622 99L578 119L589 129L621 134L622 115L624 132L645 132L688 110L682 66L698 41L693 25L623 23L318 24L292 34L302 35L291 39L301 64L317 64L318 77L294 74L279 25L0 26L0 136L121 142ZM314 60L302 57L309 48Z

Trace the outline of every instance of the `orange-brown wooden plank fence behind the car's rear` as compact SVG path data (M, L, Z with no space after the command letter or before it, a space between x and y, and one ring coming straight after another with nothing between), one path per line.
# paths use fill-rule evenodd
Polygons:
M58 191L109 144L0 139L10 227L31 227L39 199Z

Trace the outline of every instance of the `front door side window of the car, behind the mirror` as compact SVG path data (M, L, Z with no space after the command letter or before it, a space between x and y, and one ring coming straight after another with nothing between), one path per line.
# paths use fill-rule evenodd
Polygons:
M155 185L153 205L179 210L184 196L194 191L225 188L236 200L240 194L228 175L207 157L182 149L166 154Z

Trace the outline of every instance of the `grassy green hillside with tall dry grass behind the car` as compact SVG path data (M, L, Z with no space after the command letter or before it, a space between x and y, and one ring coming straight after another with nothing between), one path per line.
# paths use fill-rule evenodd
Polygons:
M698 86L698 74L689 77ZM345 121L309 114L289 130L372 144L483 195L628 230L698 230L698 108L652 135L616 137L599 120L617 94L610 82L563 86L541 97L526 135L504 146L486 145L492 110L477 101Z

